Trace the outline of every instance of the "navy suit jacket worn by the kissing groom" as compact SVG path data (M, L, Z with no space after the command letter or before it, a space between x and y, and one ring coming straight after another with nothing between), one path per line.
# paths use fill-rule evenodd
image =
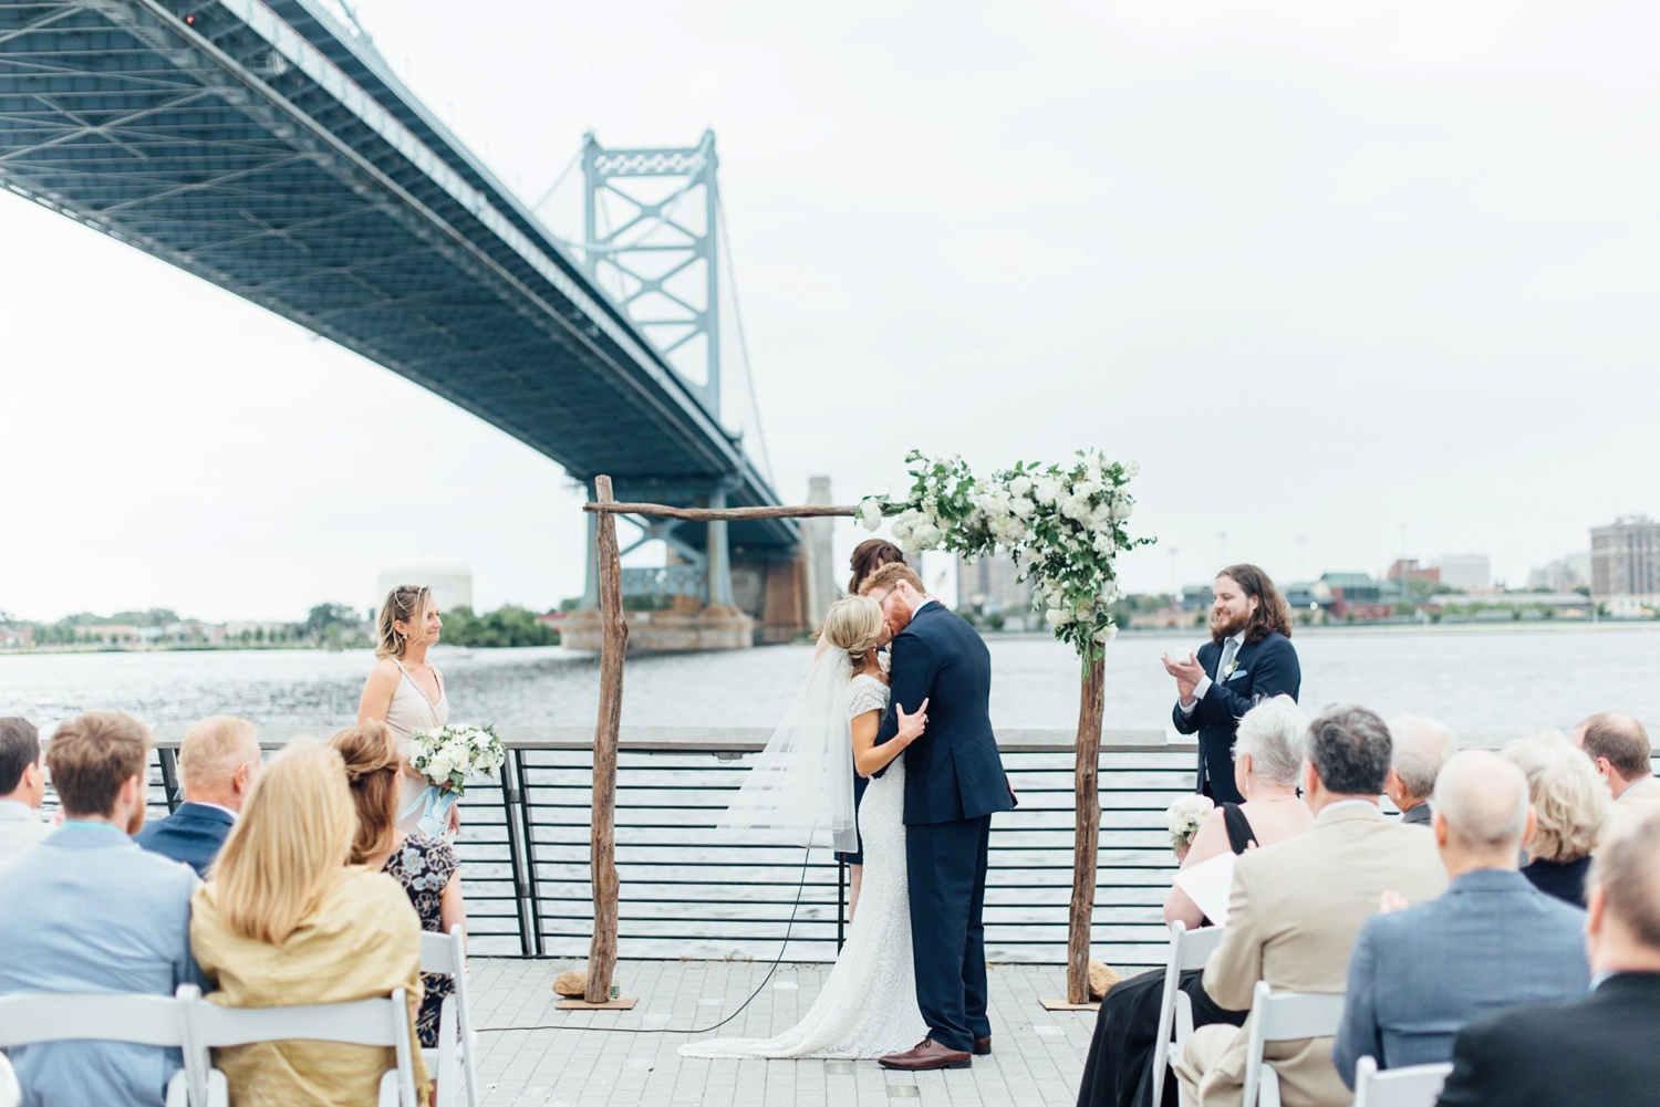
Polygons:
M923 604L893 639L888 715L876 745L928 700L928 730L905 750L905 823L950 823L1014 807L991 734L991 652L959 616ZM880 773L878 773L880 775Z

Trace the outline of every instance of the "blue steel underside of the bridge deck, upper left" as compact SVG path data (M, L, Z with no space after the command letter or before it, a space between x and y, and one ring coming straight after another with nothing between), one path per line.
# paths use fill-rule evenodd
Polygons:
M314 0L0 0L0 184L619 498L777 503L719 413ZM798 529L735 523L730 544L788 558Z

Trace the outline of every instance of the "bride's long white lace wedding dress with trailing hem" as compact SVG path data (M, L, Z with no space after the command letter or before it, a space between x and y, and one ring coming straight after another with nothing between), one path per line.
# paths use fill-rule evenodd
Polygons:
M886 710L888 685L860 674L850 717ZM769 1039L717 1037L681 1046L682 1057L885 1057L928 1032L916 1009L911 903L905 873L905 755L870 782L858 805L865 876L847 944L807 1017Z

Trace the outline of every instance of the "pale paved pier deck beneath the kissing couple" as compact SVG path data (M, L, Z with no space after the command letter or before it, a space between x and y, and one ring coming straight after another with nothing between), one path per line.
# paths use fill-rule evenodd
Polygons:
M480 1036L490 1107L1069 1105L1096 1026L1091 1011L1049 1012L1039 1004L1064 991L1061 966L1004 964L989 973L993 1054L976 1057L971 1069L908 1074L875 1061L682 1059L677 1047L691 1036L626 1031L719 1022L760 986L769 963L624 961L618 981L626 996L639 996L632 1011L556 1011L553 979L568 968L581 966L473 958L475 1026L561 1027ZM828 974L828 964L780 964L755 1001L715 1034L770 1037L788 1029Z

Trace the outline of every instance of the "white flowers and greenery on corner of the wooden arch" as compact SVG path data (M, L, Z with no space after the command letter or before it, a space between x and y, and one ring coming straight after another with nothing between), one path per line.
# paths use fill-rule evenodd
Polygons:
M891 516L906 553L950 549L974 559L1006 549L1054 636L1086 662L1099 657L1117 634L1112 602L1122 593L1114 563L1124 549L1154 541L1125 529L1135 505L1127 485L1140 466L1109 461L1099 450L1079 450L1069 466L1021 461L989 478L976 478L959 456L913 450L905 461L915 478L910 495L865 496L860 523L876 529Z

